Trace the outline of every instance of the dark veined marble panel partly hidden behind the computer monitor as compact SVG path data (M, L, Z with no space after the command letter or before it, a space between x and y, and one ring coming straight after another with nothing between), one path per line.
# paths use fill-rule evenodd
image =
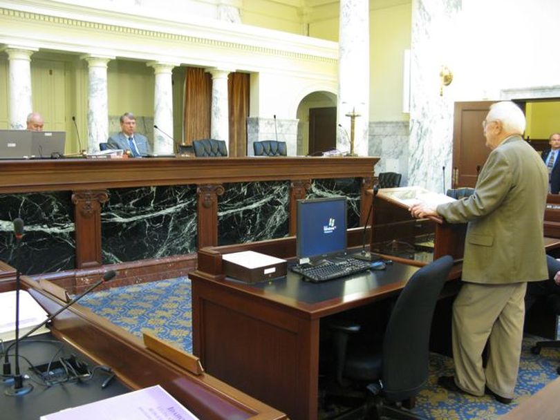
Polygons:
M346 195L348 198L348 229L360 226L360 185L362 178L313 180L307 198L325 198Z

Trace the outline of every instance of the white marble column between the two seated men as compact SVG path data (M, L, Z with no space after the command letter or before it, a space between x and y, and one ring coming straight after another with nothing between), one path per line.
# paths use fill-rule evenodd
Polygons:
M99 150L109 138L107 63L115 57L82 57L88 62L88 152Z

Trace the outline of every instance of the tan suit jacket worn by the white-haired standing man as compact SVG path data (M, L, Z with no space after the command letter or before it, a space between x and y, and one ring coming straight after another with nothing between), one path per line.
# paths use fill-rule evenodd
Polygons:
M469 198L440 204L447 222L469 222L463 281L516 283L548 278L543 218L548 171L519 135L494 149Z

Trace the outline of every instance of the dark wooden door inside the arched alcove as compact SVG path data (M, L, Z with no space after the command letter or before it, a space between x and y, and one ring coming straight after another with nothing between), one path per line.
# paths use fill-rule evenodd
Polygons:
M337 148L337 108L309 108L309 151L313 153Z

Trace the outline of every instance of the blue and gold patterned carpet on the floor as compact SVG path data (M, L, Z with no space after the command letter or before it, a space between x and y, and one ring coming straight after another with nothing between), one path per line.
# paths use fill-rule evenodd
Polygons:
M141 336L141 330L151 330L156 336L192 352L190 285L188 278L181 277L115 287L90 294L80 303L132 334ZM414 411L434 420L497 419L557 377L560 350L543 349L541 354L534 355L530 348L538 339L525 336L523 340L516 398L511 405L503 405L491 397L469 397L439 387L439 376L453 374L453 361L447 356L431 354L429 384L420 392Z

